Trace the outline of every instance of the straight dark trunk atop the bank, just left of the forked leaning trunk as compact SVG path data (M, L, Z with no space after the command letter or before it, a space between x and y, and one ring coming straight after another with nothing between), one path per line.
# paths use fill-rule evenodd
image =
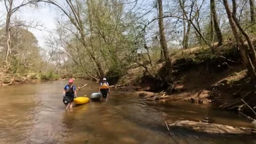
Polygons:
M218 23L218 18L215 10L215 0L210 0L210 9L212 13L212 20L214 21L214 29L218 39L218 46L223 45L223 37Z

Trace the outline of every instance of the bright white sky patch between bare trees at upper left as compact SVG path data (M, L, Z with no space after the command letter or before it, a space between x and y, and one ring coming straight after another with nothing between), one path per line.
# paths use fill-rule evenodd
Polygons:
M17 1L15 1L17 3ZM4 2L0 2L0 14L5 14L6 9ZM39 8L23 7L19 9L14 17L18 17L24 21L34 21L39 23L42 27L37 27L37 29L29 28L28 30L34 34L38 40L38 45L42 48L45 47L45 38L56 28L56 15L57 11L55 8L49 6L40 5ZM0 15L1 16L1 15ZM40 29L40 30L38 30Z

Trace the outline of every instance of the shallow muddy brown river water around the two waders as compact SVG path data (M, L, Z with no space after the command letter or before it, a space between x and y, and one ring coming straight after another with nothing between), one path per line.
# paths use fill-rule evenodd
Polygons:
M91 81L78 96L98 91ZM254 136L207 135L175 130L169 135L162 117L249 127L236 113L186 102L145 102L131 92L111 91L109 102L93 102L66 111L62 89L67 81L1 87L0 143L256 143Z

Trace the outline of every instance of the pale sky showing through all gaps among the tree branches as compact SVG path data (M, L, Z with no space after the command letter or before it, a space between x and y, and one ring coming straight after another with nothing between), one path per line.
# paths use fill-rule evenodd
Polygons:
M22 1L23 0L15 0L14 7L21 4ZM58 0L57 2L62 3L63 0ZM157 17L157 9L155 8L156 7L155 1L153 1L153 0L147 0L147 1L140 0L140 1L137 1L137 3L135 3L136 1L130 2L129 0L124 1L124 3L125 2L126 2L125 8L124 8L125 11L126 10L129 11L133 8L133 10L132 10L133 13L136 13L138 16L142 16L143 19L145 19L147 21L150 21L153 18ZM130 2L130 3L128 3L128 2ZM199 2L201 2L201 1L199 1ZM29 28L28 30L35 35L35 37L38 40L38 45L40 47L44 48L45 47L45 37L48 37L50 34L54 33L54 29L57 26L56 18L60 17L60 14L62 14L62 12L60 12L60 10L58 10L55 6L52 6L49 4L39 3L38 5L39 5L38 8L25 6L21 9L19 9L19 11L17 11L12 16L12 19L17 17L17 19L23 20L26 23L29 23L29 21L33 20L33 23L38 22L40 25L42 25L43 27L37 27L38 29L41 29L41 30L37 30L37 29L33 29L33 28ZM177 7L177 5L175 5L172 1L165 1L164 7L168 11L169 8ZM6 9L5 9L5 5L4 5L4 1L0 0L0 20L1 20L1 16L4 16L2 18L4 20L0 21L2 23L5 22L5 13L6 13ZM168 25L170 25L170 24L175 25L175 22L177 21L176 18L173 18L173 19L165 18L164 20L166 21L165 24L168 23ZM147 21L144 21L144 22L146 23ZM2 23L0 23L0 26ZM179 44L179 41L181 41L182 37L181 36L175 37L175 36L170 35L170 33L173 31L180 31L181 28L170 27L168 25L166 25L166 28L165 28L166 36L168 39L167 41L172 44ZM157 29L158 29L158 21L155 20L154 22L151 23L150 26L148 26L147 37L154 37L154 35L156 35L155 33L156 33ZM148 39L150 39L150 38L148 38Z

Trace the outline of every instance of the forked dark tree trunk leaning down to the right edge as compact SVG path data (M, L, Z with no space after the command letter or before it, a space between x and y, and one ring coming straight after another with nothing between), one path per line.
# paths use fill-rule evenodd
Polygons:
M236 3L233 3L233 7L234 8L233 8L232 14L231 14L231 11L229 9L229 5L228 5L227 0L223 0L223 4L224 4L226 12L227 12L229 24L230 24L230 27L232 29L234 38L236 39L236 42L237 42L237 44L239 46L241 57L242 57L243 62L245 63L245 65L246 65L246 67L248 69L248 74L250 75L251 82L253 84L255 84L255 82L256 82L255 67L252 64L251 58L249 57L249 52L247 50L247 46L244 44L241 36L239 35L236 23L235 23L235 21L234 21L234 19L232 17L232 15L236 14Z

